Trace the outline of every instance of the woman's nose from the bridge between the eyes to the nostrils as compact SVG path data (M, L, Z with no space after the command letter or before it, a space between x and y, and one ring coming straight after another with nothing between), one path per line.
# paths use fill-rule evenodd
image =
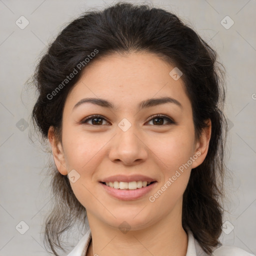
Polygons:
M145 159L147 151L139 138L139 130L135 124L131 124L123 118L116 127L116 135L113 138L109 157L111 160L121 160L125 164L132 164L137 159Z

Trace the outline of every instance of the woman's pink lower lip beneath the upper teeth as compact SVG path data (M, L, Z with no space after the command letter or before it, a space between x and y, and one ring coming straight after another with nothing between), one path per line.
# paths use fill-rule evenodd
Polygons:
M144 196L145 194L147 194L156 185L157 182L153 182L148 186L144 186L136 189L130 189L130 190L116 189L116 188L107 186L101 182L99 183L103 186L106 192L114 198L117 198L120 200L136 200Z

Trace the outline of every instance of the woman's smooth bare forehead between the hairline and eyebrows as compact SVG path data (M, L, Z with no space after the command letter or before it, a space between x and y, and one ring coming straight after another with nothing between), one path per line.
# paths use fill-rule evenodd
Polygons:
M126 107L152 97L170 96L190 104L181 78L170 76L171 65L154 53L111 54L85 67L66 99L73 107L83 97L99 97Z

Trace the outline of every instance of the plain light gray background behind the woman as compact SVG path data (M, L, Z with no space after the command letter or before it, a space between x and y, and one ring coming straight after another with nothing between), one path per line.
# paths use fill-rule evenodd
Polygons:
M45 166L51 156L41 149L35 138L35 144L28 139L32 128L29 115L35 95L27 91L24 84L33 73L39 55L60 29L88 8L102 9L111 3L114 2L0 0L1 256L47 255L40 233L50 206L50 179ZM226 68L229 177L226 179L224 221L229 222L223 227L221 241L255 254L256 0L153 0L151 3L173 11L190 24L217 50ZM24 29L15 23L21 15L29 21ZM234 21L229 29L221 24L226 15ZM228 19L222 22L226 26L231 24ZM20 221L29 227L24 234L20 231L25 231L25 225ZM82 236L75 228L73 230L70 245Z

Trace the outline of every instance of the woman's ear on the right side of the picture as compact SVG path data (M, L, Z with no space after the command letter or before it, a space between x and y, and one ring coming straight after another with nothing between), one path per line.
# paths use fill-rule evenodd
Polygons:
M196 155L197 158L194 159L192 163L192 168L195 168L198 165L200 165L205 159L208 152L211 135L211 120L207 119L205 123L207 126L203 128L203 131L195 144L194 155Z

